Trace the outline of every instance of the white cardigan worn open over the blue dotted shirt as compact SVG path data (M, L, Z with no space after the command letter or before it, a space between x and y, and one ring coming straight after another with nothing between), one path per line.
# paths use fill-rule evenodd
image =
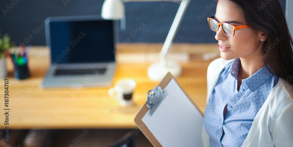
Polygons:
M207 102L221 71L234 60L218 58L209 64L207 69ZM209 142L210 138L203 127L203 146L209 147ZM284 79L279 78L277 85L272 88L267 100L256 114L242 146L293 146L293 86Z

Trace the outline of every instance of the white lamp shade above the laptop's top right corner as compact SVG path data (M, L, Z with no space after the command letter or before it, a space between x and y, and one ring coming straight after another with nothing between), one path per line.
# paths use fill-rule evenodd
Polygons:
M102 6L101 17L108 20L124 18L125 8L121 0L105 0Z

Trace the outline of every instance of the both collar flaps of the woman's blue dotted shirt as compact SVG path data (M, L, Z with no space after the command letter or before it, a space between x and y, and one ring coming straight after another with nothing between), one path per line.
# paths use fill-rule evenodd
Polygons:
M236 78L237 81L238 81L237 77L238 77L239 65L240 65L240 58L237 58L232 62L232 66L229 69L229 71L231 72L231 75L234 78ZM270 66L269 65L267 66L270 69ZM252 92L273 75L274 74L272 74L265 66L263 66L260 70L258 70L252 76L244 79L244 83L246 84L247 88Z

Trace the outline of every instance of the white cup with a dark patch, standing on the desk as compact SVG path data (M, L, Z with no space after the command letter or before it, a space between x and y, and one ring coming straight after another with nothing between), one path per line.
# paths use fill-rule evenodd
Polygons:
M136 87L136 82L132 79L118 80L114 87L110 88L108 94L111 98L120 102L122 106L133 104L132 93Z

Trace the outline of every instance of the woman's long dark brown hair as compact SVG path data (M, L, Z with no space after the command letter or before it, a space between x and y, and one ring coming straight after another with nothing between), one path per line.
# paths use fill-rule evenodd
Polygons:
M293 41L279 0L229 1L242 9L246 23L253 30L268 36L263 42L263 62L271 70L267 69L293 85Z

